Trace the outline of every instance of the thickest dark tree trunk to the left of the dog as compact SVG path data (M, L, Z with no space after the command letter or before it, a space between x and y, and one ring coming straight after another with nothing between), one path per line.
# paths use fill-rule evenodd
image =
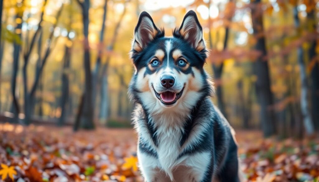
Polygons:
M85 0L83 4L83 33L84 33L84 72L85 72L85 95L82 114L82 127L85 129L94 129L93 121L93 96L92 96L92 74L90 63L90 45L89 45L89 9L90 0Z

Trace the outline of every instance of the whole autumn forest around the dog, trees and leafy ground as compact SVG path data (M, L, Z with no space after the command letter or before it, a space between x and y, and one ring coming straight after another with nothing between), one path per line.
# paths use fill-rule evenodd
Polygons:
M0 2L2 180L142 181L133 31L147 11L172 36L194 10L246 179L319 181L318 0Z

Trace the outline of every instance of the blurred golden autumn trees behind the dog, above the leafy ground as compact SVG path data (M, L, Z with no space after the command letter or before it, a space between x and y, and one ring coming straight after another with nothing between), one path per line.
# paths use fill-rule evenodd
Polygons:
M317 0L5 0L1 121L130 127L133 30L167 36L195 10L213 98L232 126L282 137L319 129Z

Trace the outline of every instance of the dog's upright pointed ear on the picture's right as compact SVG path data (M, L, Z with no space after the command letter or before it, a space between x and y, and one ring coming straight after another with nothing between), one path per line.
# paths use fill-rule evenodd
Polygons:
M197 51L205 49L203 29L199 24L195 11L190 10L186 13L182 25L179 29L175 29L173 35L188 41Z

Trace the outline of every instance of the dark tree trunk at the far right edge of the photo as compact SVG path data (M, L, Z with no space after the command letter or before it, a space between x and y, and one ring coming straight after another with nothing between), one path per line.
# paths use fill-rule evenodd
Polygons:
M315 18L315 10L310 11L307 14L307 19L309 23L310 32L316 32L316 18ZM317 40L311 40L310 42L310 49L309 49L309 60L310 62L313 61L316 57L316 46ZM312 119L314 122L314 126L316 130L319 130L319 62L316 61L314 67L311 69L310 73L310 80L311 80L311 113Z

